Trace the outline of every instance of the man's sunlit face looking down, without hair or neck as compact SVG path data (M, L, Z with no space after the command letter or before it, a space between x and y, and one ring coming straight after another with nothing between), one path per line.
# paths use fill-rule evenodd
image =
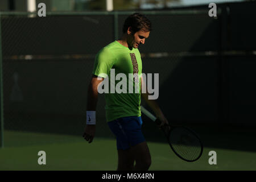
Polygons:
M128 30L128 34L129 34L129 39L128 39L129 47L138 48L139 45L145 43L145 39L148 38L150 32L139 30L135 32L135 34L132 34L132 32L129 33L129 30Z

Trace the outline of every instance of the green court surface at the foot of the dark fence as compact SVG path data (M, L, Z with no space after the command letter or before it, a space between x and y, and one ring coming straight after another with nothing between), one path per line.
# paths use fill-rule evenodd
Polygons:
M177 158L167 143L148 142L150 170L256 170L256 152L204 148L196 162ZM209 151L217 152L217 165L210 165ZM38 164L38 152L46 152L46 165ZM0 149L0 170L115 170L115 140L95 138L87 143L70 135L5 131L5 148Z

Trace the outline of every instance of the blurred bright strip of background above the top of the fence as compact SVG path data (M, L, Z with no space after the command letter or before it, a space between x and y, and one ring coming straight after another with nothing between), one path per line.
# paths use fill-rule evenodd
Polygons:
M33 0L36 5L45 3L48 11L93 11L108 10L107 4L110 2L110 10L164 10L177 7L191 7L209 5L209 3L228 2L248 2L251 0ZM2 0L0 2L1 11L27 11L30 0Z

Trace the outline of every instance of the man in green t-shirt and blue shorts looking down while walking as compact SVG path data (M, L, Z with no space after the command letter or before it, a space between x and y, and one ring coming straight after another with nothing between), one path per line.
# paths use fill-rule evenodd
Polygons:
M96 131L97 89L104 78L110 80L110 69L114 69L115 75L133 73L133 88L136 84L141 88L142 77L136 76L142 73L138 47L145 43L150 31L151 22L146 16L139 13L130 15L123 25L122 38L108 44L97 53L88 88L87 122L83 135L89 143L92 142ZM113 83L110 83L111 85L113 86ZM106 120L117 138L117 170L147 170L151 165L150 151L141 131L141 96L162 121L160 126L168 124L156 102L148 100L148 93L105 93Z

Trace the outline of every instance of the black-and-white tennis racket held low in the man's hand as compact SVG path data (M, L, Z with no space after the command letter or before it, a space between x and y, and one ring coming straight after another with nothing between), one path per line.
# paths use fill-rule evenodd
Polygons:
M143 106L141 106L141 111L157 125L161 124L161 121ZM170 125L164 125L161 129L164 131L172 151L180 159L187 162L194 162L203 154L203 144L195 131L187 127Z

